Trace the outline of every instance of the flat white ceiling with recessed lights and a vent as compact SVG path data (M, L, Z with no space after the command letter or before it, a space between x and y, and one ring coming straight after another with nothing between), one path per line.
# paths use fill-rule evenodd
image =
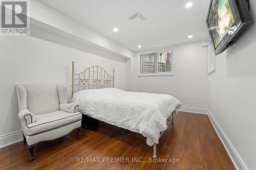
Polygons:
M41 0L132 51L202 39L208 0ZM193 2L186 9L185 4ZM146 20L134 25L130 16ZM119 29L114 32L113 28ZM188 39L188 35L193 38ZM142 45L142 48L138 48Z

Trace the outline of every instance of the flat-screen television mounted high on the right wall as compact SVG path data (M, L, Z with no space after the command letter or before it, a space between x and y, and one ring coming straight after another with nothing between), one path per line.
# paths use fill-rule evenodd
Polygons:
M236 44L250 22L248 0L210 0L206 23L215 54Z

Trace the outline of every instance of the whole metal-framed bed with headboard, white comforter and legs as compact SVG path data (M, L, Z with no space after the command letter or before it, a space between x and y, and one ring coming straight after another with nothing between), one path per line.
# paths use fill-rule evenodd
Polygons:
M156 144L168 124L174 123L181 104L172 95L114 88L114 74L114 69L110 76L100 66L74 74L72 62L72 102L82 114L142 134L156 158Z

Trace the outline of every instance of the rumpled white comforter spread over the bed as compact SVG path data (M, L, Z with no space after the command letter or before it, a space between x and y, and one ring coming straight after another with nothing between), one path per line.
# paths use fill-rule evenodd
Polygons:
M150 146L158 143L166 120L179 109L172 95L128 92L117 88L81 90L73 95L79 111L103 122L141 133Z

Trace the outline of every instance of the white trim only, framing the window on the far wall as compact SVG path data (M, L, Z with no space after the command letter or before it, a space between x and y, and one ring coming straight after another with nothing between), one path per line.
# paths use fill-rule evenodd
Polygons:
M140 55L148 54L148 53L157 53L157 52L166 52L172 51L172 71L169 72L157 72L154 74L140 74ZM174 47L160 48L152 51L143 51L138 54L138 76L174 76Z

